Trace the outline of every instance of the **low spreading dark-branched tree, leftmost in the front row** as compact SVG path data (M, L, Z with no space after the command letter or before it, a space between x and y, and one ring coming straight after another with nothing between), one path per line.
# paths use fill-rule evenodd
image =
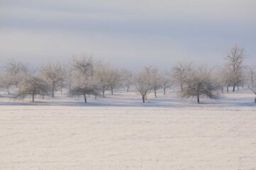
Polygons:
M33 75L27 75L18 84L18 91L16 93L17 98L26 98L31 96L32 102L35 101L36 95L45 96L50 91L46 81Z

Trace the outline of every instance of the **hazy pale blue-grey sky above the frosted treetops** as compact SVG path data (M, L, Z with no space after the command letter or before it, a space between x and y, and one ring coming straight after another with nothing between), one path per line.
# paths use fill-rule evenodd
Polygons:
M220 64L233 44L256 64L255 0L0 0L0 64L97 59L136 69Z

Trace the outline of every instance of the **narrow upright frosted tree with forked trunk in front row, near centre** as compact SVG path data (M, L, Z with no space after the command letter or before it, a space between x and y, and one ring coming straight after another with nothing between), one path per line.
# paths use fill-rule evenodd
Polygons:
M151 72L149 67L144 67L134 75L134 85L142 95L142 102L145 103L146 96L152 90L151 86Z

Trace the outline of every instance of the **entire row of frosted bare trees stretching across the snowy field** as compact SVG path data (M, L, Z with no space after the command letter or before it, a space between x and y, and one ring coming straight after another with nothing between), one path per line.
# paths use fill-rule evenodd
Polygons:
M0 74L1 87L16 98L31 96L55 97L55 91L68 89L70 96L105 97L105 92L114 93L114 89L125 87L129 91L134 86L146 101L149 93L166 89L171 85L179 88L178 95L183 98L201 96L218 98L226 87L239 90L245 85L256 95L256 67L245 67L245 51L239 45L230 48L223 67L196 67L191 63L178 63L171 72L162 72L158 67L150 66L133 73L127 69L117 69L92 57L73 57L69 64L49 63L38 69L28 64L10 62ZM11 91L10 91L11 89ZM255 98L256 103L256 98Z

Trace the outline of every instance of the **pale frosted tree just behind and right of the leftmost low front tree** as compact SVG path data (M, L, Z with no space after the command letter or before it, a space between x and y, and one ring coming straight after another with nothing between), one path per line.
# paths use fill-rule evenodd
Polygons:
M60 63L48 63L41 67L41 77L48 82L51 89L51 96L54 97L55 91L63 86L65 77L66 77L66 69Z

